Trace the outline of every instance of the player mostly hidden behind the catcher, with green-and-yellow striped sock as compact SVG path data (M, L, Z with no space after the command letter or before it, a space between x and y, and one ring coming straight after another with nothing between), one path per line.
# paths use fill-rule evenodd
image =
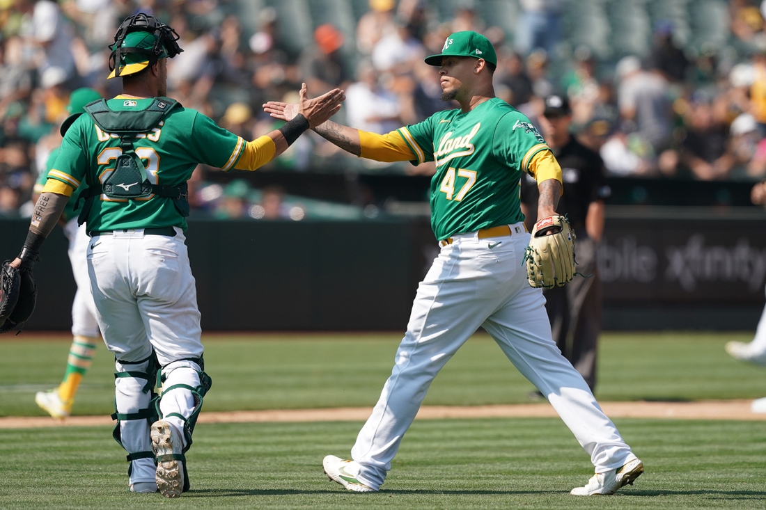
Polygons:
M74 90L69 97L67 112L70 115L85 113L84 107L87 103L100 99L101 94L97 90L87 87ZM47 159L44 172L40 172L38 181L34 185L35 196L33 201L37 201L42 192L48 172L53 168L57 155L58 148L53 149ZM72 336L74 338L69 348L67 369L64 371L64 380L58 387L51 391L38 391L34 396L34 401L37 402L38 406L57 419L69 416L77 388L80 387L80 381L83 380L90 368L96 345L100 343L101 336L96 320L96 305L93 303L93 295L90 293L87 260L85 260L85 251L90 237L85 231L84 224L77 225L77 212L74 211L74 203L77 201L80 191L83 191L85 187L85 183L82 182L72 193L67 207L64 208L64 214L61 214L60 222L64 227L64 235L69 240L67 253L72 265L74 282L77 283L77 293L75 293L74 302L72 302Z

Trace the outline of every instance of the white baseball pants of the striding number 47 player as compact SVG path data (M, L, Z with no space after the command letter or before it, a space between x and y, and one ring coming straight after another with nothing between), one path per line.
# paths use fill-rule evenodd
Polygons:
M352 448L361 465L357 479L365 485L383 483L431 381L480 326L545 394L596 472L636 458L553 342L542 290L529 286L522 265L529 234L521 223L510 227L521 234L454 236L418 287L391 377Z

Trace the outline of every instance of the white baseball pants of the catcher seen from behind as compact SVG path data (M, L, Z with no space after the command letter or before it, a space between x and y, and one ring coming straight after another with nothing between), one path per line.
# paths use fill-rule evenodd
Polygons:
M187 384L198 387L201 368L190 358L201 358L200 313L197 291L191 276L184 234L175 237L144 235L143 229L116 230L95 236L87 249L87 266L97 319L106 347L116 358L117 371L141 371L131 365L155 351L163 373L164 387ZM116 378L117 412L136 413L146 409L147 394L142 378ZM162 414L191 416L195 398L176 389L160 400ZM183 430L184 420L165 418ZM126 420L120 423L123 446L129 453L151 450L149 423ZM186 438L184 438L186 442ZM155 479L152 459L133 460L130 483Z

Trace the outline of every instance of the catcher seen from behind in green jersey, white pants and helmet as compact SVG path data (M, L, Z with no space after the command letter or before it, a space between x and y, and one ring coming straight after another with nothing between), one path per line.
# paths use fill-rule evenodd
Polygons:
M113 436L128 452L131 492L178 497L189 488L185 453L211 387L184 243L186 181L200 163L255 170L329 119L344 96L336 89L306 100L304 85L301 114L247 142L165 97L167 59L182 51L172 28L139 13L123 21L114 40L110 78L123 78L123 93L64 122L61 151L11 266L34 266L85 182L78 205L90 235L90 289L104 343L115 355ZM221 247L222 264L234 244ZM155 378L162 384L156 397Z

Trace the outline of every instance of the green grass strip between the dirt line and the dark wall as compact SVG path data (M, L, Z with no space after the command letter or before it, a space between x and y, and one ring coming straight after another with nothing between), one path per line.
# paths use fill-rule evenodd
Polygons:
M69 344L23 333L0 342L0 416L44 416L34 392L56 386ZM255 340L254 340L255 338ZM599 351L599 400L766 396L766 370L723 350L750 334L609 334ZM207 336L213 389L205 410L372 407L394 362L398 335ZM100 346L74 414L113 412L113 357ZM340 377L342 376L342 378ZM471 338L430 387L425 404L527 402L534 388L487 335Z

